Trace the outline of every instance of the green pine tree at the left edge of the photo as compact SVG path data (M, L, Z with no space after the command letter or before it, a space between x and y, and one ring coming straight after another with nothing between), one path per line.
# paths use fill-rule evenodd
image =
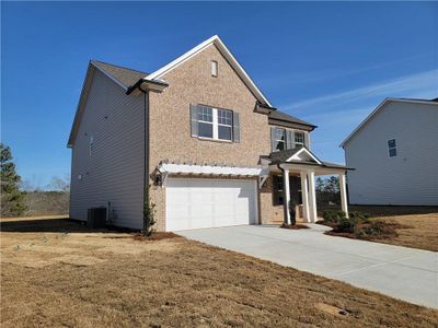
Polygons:
M24 194L20 191L20 175L15 172L11 149L0 142L1 216L19 216L24 213Z

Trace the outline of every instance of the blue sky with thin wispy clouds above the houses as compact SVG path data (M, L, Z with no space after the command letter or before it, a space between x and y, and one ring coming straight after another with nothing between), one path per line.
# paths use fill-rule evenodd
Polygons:
M339 142L384 97L438 96L434 2L2 2L1 139L24 180L70 173L88 61L153 71L218 34L273 105Z

